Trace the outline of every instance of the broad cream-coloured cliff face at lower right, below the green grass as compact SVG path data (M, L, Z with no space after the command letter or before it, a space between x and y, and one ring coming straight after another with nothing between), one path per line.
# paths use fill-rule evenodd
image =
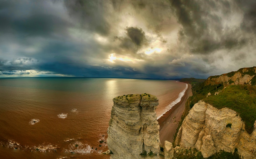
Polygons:
M254 131L248 134L235 111L199 101L184 119L175 145L196 148L205 158L220 150L234 152L236 148L245 159L256 158L256 121Z

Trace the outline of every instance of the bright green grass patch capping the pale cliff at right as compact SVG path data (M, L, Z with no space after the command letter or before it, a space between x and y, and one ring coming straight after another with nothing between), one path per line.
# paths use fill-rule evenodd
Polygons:
M221 109L236 111L245 123L245 130L251 134L256 120L256 88L251 85L229 85L218 95L211 95L203 101Z

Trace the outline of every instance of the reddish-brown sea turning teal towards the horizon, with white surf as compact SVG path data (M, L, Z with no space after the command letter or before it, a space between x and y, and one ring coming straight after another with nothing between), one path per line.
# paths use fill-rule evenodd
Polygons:
M153 94L159 118L186 89L174 80L0 78L0 158L109 159L101 152L114 97Z

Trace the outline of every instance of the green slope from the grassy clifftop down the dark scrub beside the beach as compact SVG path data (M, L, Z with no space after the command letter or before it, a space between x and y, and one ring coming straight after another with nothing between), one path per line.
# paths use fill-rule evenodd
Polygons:
M222 90L218 95L215 92ZM208 93L211 96L207 97ZM188 115L189 110L199 100L204 100L214 107L221 109L228 107L236 111L245 123L245 130L251 134L253 125L256 120L256 88L251 85L229 85L223 89L222 84L207 85L204 83L197 83L192 87L193 96L189 97L185 105L185 111L180 119L177 131L174 135L176 139L178 130L182 125L183 120Z

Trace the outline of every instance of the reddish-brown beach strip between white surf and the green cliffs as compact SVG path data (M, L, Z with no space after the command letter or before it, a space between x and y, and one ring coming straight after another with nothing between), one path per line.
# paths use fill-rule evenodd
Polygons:
M188 97L191 95L191 84L188 84L188 89L186 90L180 102L158 119L158 123L160 125L160 142L162 145L164 145L165 140L173 142L173 136L178 127L178 122L180 121L180 118L185 109L185 103Z

